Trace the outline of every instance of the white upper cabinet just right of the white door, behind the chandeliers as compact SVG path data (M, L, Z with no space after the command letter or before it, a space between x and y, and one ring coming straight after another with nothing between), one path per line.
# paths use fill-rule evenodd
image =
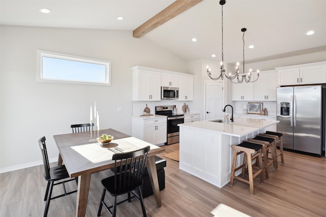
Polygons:
M232 83L233 101L253 101L254 100L254 82L235 84Z

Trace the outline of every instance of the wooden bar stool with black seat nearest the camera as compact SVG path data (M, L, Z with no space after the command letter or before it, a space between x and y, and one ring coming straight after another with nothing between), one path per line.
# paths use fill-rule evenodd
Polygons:
M233 160L232 160L232 168L231 168L231 177L230 177L230 185L233 185L234 179L238 179L240 181L249 183L250 193L254 194L254 178L260 174L260 183L264 183L264 174L263 171L263 162L262 162L262 145L254 142L243 141L238 145L231 145L233 149ZM237 156L241 153L244 153L243 162L240 166L235 168ZM259 168L256 171L253 171L253 160L257 159L259 161ZM244 171L247 169L246 164L248 164L248 175L249 180L243 178ZM242 169L241 177L235 176L234 173Z

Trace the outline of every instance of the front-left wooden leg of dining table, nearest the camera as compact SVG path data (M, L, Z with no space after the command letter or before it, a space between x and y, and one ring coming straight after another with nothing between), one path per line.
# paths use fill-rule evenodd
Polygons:
M76 217L85 217L88 192L90 190L91 174L78 176Z

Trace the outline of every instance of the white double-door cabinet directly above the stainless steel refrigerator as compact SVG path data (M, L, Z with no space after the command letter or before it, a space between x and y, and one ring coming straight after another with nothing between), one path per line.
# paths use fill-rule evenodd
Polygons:
M275 69L278 70L280 86L326 83L326 61Z

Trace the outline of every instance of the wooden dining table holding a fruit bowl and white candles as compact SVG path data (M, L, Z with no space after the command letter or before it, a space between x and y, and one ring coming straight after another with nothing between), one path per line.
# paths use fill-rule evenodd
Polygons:
M150 151L147 170L157 206L160 207L161 199L154 156L165 149L114 129L100 130L97 134L112 135L114 140L108 144L94 142L91 140L91 132L53 136L59 149L58 165L64 163L69 176L78 177L76 216L86 215L92 173L114 168L113 154L137 150L148 145Z

